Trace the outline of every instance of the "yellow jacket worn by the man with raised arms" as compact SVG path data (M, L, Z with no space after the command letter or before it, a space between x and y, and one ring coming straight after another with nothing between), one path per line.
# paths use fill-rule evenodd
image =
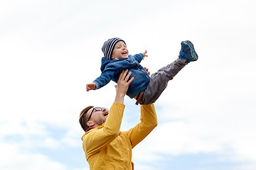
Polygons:
M154 104L141 105L141 122L126 132L119 131L123 113L124 104L114 102L106 122L82 136L91 170L134 169L132 148L156 127L156 111Z

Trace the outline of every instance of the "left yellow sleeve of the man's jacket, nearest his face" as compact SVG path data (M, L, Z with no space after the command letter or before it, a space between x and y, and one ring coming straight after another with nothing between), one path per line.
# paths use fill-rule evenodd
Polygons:
M82 147L85 151L86 159L109 145L118 136L123 113L124 104L114 102L102 128L97 127L85 133L85 137L82 138Z

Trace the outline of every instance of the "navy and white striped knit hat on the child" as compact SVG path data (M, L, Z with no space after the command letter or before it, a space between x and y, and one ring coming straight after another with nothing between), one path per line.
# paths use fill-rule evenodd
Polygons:
M104 53L104 56L107 60L111 60L112 52L114 50L114 45L116 45L117 42L119 41L124 42L124 40L122 40L121 38L110 38L104 42L102 46L102 52Z

